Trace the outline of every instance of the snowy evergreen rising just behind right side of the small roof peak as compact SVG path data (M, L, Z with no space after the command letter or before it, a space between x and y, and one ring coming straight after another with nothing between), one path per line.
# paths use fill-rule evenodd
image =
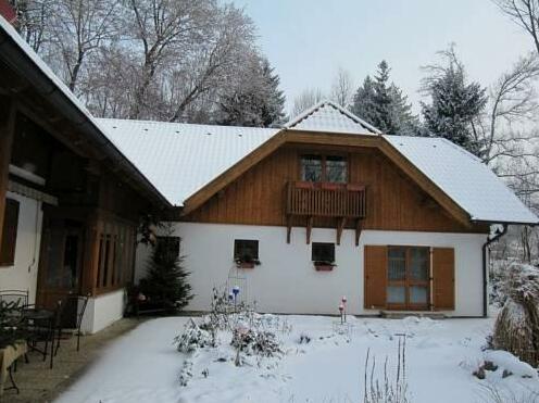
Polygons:
M366 76L355 92L352 112L387 135L411 135L416 131L417 117L402 90L389 83L389 65L378 64L373 78Z

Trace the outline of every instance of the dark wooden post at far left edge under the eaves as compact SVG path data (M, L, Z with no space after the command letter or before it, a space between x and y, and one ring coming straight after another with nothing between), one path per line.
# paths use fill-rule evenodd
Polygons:
M15 103L8 99L0 99L0 244L2 243L2 228L5 213L5 192L8 191L8 176L11 162L11 149L15 131Z

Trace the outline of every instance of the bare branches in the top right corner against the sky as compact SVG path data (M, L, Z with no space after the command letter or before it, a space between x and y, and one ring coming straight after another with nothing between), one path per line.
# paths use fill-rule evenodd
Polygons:
M511 20L518 24L534 40L539 54L539 1L493 0Z

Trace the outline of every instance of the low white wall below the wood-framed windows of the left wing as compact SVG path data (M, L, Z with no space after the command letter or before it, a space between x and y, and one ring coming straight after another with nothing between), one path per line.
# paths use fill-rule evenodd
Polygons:
M121 319L124 314L124 289L90 298L80 329L95 333Z

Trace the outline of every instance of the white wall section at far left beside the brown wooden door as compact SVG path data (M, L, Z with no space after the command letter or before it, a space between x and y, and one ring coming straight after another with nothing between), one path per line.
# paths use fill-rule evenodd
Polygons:
M29 290L29 303L34 303L41 243L41 202L12 192L7 197L21 204L15 262L13 266L0 266L0 290Z

